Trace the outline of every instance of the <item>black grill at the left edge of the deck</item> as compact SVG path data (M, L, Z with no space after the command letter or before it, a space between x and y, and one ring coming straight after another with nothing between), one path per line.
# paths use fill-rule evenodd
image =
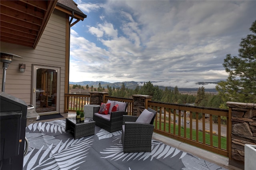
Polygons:
M22 170L27 104L1 92L1 170Z

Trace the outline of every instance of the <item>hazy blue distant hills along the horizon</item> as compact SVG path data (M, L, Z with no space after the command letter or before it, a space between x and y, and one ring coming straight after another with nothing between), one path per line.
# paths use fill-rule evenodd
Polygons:
M81 85L81 86L86 86L88 84L89 87L93 86L94 88L98 88L99 83L101 84L102 88L107 88L107 86L109 87L115 87L115 88L121 88L122 84L124 83L124 86L126 88L130 88L130 89L135 89L138 84L143 84L144 82L115 82L115 83L110 83L110 82L102 82L102 81L83 81L83 82L69 82L70 85L73 84L77 84L77 85ZM154 84L154 82L152 82ZM200 85L206 85L206 84L218 84L218 82L198 82L198 84ZM160 89L164 90L166 87L165 86L158 86ZM174 87L167 87L168 89L172 89L174 90ZM197 92L198 88L179 88L180 92ZM216 89L205 89L206 92L216 92Z

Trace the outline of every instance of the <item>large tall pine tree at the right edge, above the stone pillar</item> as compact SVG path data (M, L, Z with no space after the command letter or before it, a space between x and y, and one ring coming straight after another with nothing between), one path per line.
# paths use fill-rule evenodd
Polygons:
M222 97L222 108L227 101L255 103L256 101L256 20L250 27L252 34L242 38L238 56L227 54L223 66L229 74L218 83L216 90Z

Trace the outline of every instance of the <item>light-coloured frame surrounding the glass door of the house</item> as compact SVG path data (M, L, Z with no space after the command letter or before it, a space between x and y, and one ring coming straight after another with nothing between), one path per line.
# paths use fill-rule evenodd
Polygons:
M36 92L34 92L34 89L36 89L36 69L37 68L57 70L56 111L42 112L42 113L38 113L38 114L46 115L46 114L60 113L60 67L32 64L32 84L31 84L31 86L32 86L32 88L31 88L31 103L32 103L32 105L34 107L36 107Z

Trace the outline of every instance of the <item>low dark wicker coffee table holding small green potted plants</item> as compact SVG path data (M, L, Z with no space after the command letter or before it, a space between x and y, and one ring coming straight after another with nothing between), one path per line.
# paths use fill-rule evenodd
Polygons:
M94 128L95 121L92 118L84 118L84 122L80 122L76 117L66 118L66 131L71 131L74 139L94 135Z

